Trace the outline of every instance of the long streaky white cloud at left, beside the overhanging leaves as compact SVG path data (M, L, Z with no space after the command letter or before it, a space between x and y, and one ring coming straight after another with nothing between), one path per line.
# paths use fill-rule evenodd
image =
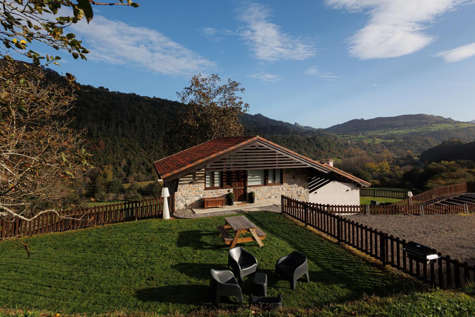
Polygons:
M89 25L81 21L70 28L87 43L90 59L172 76L190 76L217 68L214 62L157 30L108 20L100 15L95 15Z

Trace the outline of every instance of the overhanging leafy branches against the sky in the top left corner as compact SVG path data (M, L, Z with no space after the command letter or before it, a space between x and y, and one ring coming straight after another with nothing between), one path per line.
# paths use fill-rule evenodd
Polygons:
M30 43L43 43L55 50L65 50L74 59L86 59L89 50L82 46L82 41L76 39L74 33L65 33L71 24L86 19L87 23L93 18L92 5L124 5L138 7L139 4L131 0L93 1L93 0L0 0L0 57L13 61L8 50L13 50L33 60L37 66L40 59L53 62L61 59L59 56L40 54L28 50ZM65 11L66 8L66 11ZM72 15L58 15L72 9Z

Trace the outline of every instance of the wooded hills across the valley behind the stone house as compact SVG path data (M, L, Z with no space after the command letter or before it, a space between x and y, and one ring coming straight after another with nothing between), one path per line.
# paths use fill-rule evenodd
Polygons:
M53 71L49 77L61 80ZM82 85L70 115L76 118L74 128L87 127L85 138L94 155L96 168L85 178L87 195L104 198L105 193L117 191L121 183L156 179L152 162L173 154L163 148L163 138L180 107L177 101ZM411 167L419 167L414 154L453 137L475 139L475 124L428 115L350 121L352 129L368 121L375 129L385 127L367 135L329 133L329 129L304 127L262 114L245 114L241 120L247 135L260 135L316 160L335 158L341 168L383 186L426 186L413 179L406 180L406 184L402 179ZM348 122L335 127L342 126L348 126Z

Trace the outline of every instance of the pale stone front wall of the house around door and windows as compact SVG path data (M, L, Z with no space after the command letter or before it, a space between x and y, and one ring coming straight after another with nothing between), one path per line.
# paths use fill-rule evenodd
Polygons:
M283 185L249 187L247 192L254 191L256 193L256 201L280 201L280 195L282 194L295 199L308 200L306 168L284 169L283 182ZM190 173L180 178L178 190L175 193L175 209L199 207L202 204L201 198L225 197L231 190L232 188L205 190L205 172ZM173 192L171 188L170 192Z

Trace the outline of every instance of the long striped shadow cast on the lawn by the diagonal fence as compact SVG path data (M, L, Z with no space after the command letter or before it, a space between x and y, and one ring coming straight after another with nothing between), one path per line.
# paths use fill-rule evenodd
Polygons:
M305 254L311 269L310 281L324 285L344 285L350 292L341 300L361 298L364 294L388 296L393 293L420 289L420 284L386 272L381 267L367 263L364 259L345 250L338 244L300 227L293 222L282 221L281 214L259 212L247 217L269 236L273 235L295 250ZM280 255L282 256L282 255ZM266 273L266 272L265 272ZM268 277L271 277L268 275ZM269 283L274 282L269 278Z

